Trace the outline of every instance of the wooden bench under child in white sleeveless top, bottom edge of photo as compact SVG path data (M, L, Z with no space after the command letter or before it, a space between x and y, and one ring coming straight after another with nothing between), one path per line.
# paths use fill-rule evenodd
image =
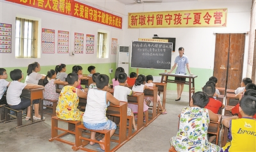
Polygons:
M104 134L105 142L101 142L101 141L93 140L93 139L90 139L87 137L83 137L83 130L88 130L90 132ZM83 140L86 142L83 142ZM104 144L105 151L110 151L110 130L91 130L91 129L85 128L83 124L77 125L76 126L76 144L74 146L72 146L72 149L74 151L77 151L78 149L81 149L83 151L95 151L93 149L84 148L84 146L89 144L90 141L96 142L98 144Z

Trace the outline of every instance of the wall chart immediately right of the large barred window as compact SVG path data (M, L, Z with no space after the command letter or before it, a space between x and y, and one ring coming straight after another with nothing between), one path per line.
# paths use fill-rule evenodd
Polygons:
M42 29L42 53L55 52L55 30Z

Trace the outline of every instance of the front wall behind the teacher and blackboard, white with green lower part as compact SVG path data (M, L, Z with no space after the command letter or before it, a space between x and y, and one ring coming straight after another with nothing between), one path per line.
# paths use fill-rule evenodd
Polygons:
M196 91L202 90L201 87L205 85L207 79L213 74L215 52L214 33L247 33L250 31L251 6L252 1L186 1L176 3L144 3L127 5L125 6L125 18L128 18L127 14L132 12L227 8L227 27L127 29L124 33L124 45L131 45L131 41L136 41L138 38L152 38L153 34L157 34L159 37L163 38L176 38L176 51L172 53L172 66L175 57L179 55L177 51L178 48L183 46L185 48L184 53L189 58L191 73L198 75L198 78L195 79ZM125 22L127 21L128 19L125 19ZM124 25L125 28L127 28L128 23L124 23ZM245 38L243 77L246 76L247 59L248 34L246 34ZM130 71L134 71L134 69L130 69ZM145 71L140 69L139 73L153 73L156 76L158 73L163 73L163 70ZM175 87L175 84L168 84L168 89L175 90ZM188 90L188 86L185 86L184 91L186 90Z

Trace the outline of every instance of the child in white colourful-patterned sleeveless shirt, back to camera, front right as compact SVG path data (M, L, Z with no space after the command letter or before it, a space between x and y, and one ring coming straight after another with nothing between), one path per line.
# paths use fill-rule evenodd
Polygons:
M204 107L209 98L204 92L196 92L180 113L180 125L177 135L171 138L170 144L176 151L220 151L220 147L207 140L210 120L218 121L218 115Z

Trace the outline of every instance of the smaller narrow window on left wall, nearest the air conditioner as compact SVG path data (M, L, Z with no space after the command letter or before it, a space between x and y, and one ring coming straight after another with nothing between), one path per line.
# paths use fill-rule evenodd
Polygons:
M97 41L97 58L106 59L108 58L108 33L98 32Z

